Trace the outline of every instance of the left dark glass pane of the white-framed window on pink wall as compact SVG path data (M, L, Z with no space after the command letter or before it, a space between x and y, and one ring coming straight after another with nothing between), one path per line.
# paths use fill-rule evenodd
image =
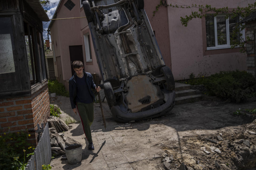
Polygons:
M214 16L206 16L206 44L207 47L215 46Z

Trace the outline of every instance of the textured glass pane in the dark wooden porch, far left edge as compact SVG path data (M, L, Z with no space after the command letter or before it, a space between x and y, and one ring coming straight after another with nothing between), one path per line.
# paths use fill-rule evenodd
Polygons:
M15 72L11 17L0 17L0 74Z

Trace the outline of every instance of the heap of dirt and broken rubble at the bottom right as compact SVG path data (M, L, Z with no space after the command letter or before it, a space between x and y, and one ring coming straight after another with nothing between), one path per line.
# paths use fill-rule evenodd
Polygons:
M256 120L216 134L185 136L162 144L162 163L171 170L248 170L256 167Z

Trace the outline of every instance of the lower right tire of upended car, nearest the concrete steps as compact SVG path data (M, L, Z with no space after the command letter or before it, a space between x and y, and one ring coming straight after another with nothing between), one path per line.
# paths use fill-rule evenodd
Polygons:
M173 78L173 73L168 66L164 66L161 68L161 73L164 75L166 83L164 83L164 87L166 90L171 91L175 88L175 82Z

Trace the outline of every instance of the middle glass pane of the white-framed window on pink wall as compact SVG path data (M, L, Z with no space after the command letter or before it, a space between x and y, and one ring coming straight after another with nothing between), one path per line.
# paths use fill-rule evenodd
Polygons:
M217 16L216 19L217 19L218 45L227 44L226 18L225 16Z

